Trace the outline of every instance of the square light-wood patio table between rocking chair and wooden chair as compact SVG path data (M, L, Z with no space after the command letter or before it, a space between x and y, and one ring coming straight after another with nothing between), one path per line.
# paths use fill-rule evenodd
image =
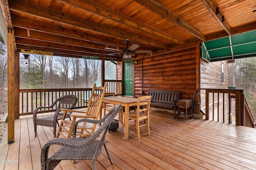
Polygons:
M125 139L128 140L129 136L129 107L130 106L137 106L138 98L132 98L132 97L124 97L124 96L115 96L115 97L104 97L103 99L103 105L104 105L104 114L105 114L105 104L121 104L125 107L124 110L124 135Z

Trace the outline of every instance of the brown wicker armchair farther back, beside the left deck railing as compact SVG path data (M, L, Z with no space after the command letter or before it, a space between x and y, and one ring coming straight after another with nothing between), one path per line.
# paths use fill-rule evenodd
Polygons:
M58 123L58 120L62 119L64 111L61 111L61 108L66 108L66 109L73 109L74 106L76 106L77 98L74 95L65 95L60 98L58 98L56 101L52 103L51 106L48 107L37 107L33 111L33 121L34 121L34 131L35 131L35 137L36 137L36 127L37 125L41 126L48 126L48 127L53 127L53 136L56 137L56 125ZM48 117L37 117L38 110L39 109L44 109L44 108L53 108L54 106L56 107L56 111L54 115L48 116ZM66 117L70 118L71 112L68 112L66 114Z

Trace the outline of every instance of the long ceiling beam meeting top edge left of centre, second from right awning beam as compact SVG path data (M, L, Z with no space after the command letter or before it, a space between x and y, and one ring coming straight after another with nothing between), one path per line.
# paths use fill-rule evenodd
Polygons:
M70 6L74 6L75 8L79 8L81 10L86 10L88 12L92 12L96 15L102 16L104 18L116 21L128 27L132 27L134 29L138 29L139 31L149 33L150 35L154 35L156 37L160 37L162 39L166 39L172 41L174 43L178 43L181 45L186 45L186 42L180 38L177 38L173 35L170 35L160 29L142 23L138 20L135 20L129 16L126 16L120 12L107 8L101 4L98 4L92 0L59 0L64 4L68 4Z

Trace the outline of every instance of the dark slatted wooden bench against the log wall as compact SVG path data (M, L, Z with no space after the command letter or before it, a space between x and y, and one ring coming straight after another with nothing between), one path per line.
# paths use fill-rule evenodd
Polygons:
M149 90L148 95L152 96L150 106L163 107L174 110L177 107L177 100L179 100L179 91L170 90Z

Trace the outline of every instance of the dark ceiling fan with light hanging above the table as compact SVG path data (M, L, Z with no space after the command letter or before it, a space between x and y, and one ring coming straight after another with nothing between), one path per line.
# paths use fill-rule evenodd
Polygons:
M120 54L123 56L124 60L129 60L131 59L133 56L135 56L133 53L151 53L151 50L137 50L135 51L135 49L137 49L138 47L140 47L140 45L137 44L133 44L130 47L128 47L128 44L130 43L130 39L125 39L124 43L126 43L126 47L124 48L124 50L119 50L119 49L111 49L111 50L117 50L120 51L118 53L112 53L110 55L114 55L114 54ZM105 48L105 49L110 49L110 48Z

